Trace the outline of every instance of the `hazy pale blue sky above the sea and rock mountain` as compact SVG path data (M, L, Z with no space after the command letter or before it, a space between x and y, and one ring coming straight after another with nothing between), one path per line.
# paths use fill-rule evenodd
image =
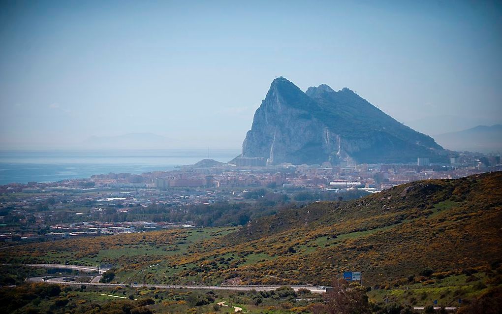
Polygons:
M2 1L0 148L239 148L280 75L427 134L501 123L500 56L499 2Z

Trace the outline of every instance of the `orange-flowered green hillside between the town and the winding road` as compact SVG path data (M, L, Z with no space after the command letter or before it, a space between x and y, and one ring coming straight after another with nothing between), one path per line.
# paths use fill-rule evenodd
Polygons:
M364 285L392 287L479 271L500 284L501 184L500 172L416 181L238 229L27 244L0 251L0 261L109 262L117 282L329 285L343 271L361 271Z

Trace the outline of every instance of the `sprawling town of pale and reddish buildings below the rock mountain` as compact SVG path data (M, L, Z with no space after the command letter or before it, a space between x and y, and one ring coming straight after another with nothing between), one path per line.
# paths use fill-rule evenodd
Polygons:
M415 180L459 178L499 170L500 156L495 154L465 153L452 157L450 164L431 164L426 158L418 158L416 164L337 166L267 166L264 158L236 158L232 163L204 159L171 171L11 183L0 186L0 241L53 241L204 227L202 221L184 221L187 216L181 214L194 206L206 206L211 211L212 204L222 203L266 208L279 203L347 199ZM181 214L174 216L176 219L162 216L166 208ZM241 215L239 219L242 224L249 216Z

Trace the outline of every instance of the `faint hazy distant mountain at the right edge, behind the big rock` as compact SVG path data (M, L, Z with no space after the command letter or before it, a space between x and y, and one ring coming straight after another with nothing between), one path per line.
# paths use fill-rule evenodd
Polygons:
M459 132L433 136L447 149L480 153L502 151L502 125L477 126Z

